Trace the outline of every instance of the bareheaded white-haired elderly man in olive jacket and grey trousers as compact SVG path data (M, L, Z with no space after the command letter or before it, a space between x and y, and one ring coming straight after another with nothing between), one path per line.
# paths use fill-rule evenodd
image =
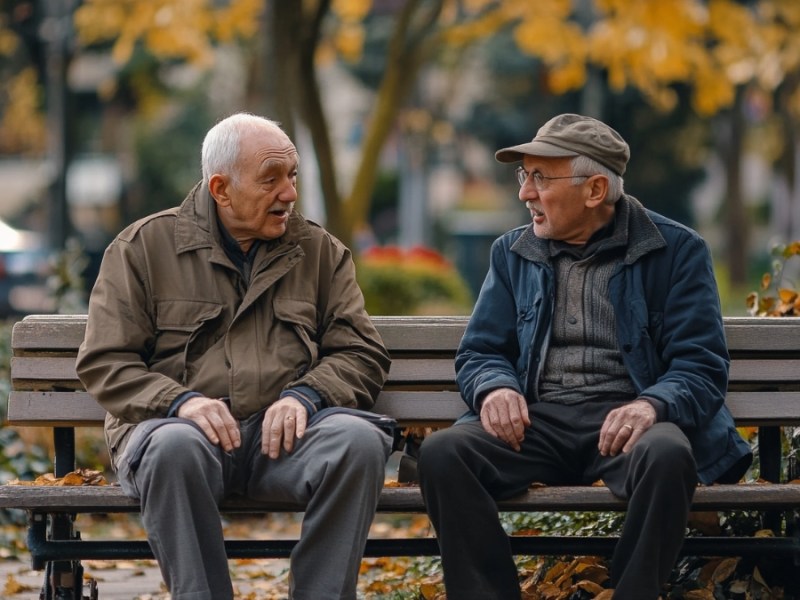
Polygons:
M232 598L218 504L306 505L293 598L355 598L390 437L368 409L389 358L350 252L294 210L297 151L237 114L203 142L203 180L111 243L78 373L108 411L173 600Z

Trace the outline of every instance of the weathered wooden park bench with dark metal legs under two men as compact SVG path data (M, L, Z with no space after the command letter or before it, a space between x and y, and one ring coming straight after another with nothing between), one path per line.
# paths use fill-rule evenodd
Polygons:
M702 310L699 308L698 310ZM465 317L376 317L393 358L389 382L375 411L395 417L403 426L447 426L465 411L455 384L453 357L466 325ZM104 411L87 394L75 374L75 356L83 339L85 316L29 316L15 324L12 336L12 391L7 425L52 427L54 471L62 477L75 470L75 430L101 427ZM762 556L788 559L800 575L800 483L782 466L781 428L800 425L800 318L726 318L732 356L727 396L740 426L757 426L759 473L768 483L699 487L694 511L762 511L771 537L692 535L683 553L689 556ZM136 512L138 505L116 485L0 486L0 508L21 509L28 516L28 548L35 569L45 570L41 598L84 598L81 560L152 558L146 541L81 540L76 518L84 513ZM302 511L303 507L265 506L231 499L231 512ZM596 486L536 486L499 503L500 511L624 511L625 502ZM415 486L387 486L380 499L383 513L422 513ZM512 536L522 555L610 555L616 539L595 536ZM287 557L292 540L228 540L231 558ZM367 556L438 554L433 537L370 539ZM73 589L73 595L64 590ZM89 598L97 598L91 582Z

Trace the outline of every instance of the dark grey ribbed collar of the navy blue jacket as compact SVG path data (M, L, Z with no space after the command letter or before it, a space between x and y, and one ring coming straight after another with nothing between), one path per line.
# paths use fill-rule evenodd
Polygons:
M617 202L614 220L614 231L598 249L624 244L625 264L632 264L639 258L658 248L667 245L664 236L650 216L647 209L633 196L623 195ZM536 237L533 226L527 225L519 238L511 245L511 250L534 262L549 262L551 257L550 241Z

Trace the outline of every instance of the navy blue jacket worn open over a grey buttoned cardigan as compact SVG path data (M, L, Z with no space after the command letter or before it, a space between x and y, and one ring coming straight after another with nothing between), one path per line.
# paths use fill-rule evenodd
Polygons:
M702 483L737 480L752 455L724 405L730 360L708 246L631 196L617 210L628 215L628 246L609 293L633 385L687 435ZM476 418L483 397L501 387L536 401L554 295L549 242L531 225L494 242L456 355L467 418Z

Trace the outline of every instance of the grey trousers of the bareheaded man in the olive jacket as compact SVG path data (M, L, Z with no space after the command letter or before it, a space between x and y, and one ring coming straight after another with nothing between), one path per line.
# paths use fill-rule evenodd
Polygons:
M241 422L226 453L183 419L139 425L118 461L173 600L226 600L233 589L218 504L230 494L306 505L290 560L290 596L354 599L391 451L388 435L352 415L310 426L290 454L261 453L263 412Z

